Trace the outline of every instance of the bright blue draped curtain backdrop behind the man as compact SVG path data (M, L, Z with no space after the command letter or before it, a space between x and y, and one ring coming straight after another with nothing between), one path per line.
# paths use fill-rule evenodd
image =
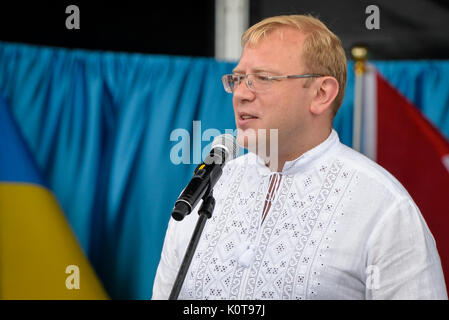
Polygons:
M449 137L449 61L375 65ZM235 129L221 85L234 66L0 42L0 95L112 298L151 297L173 203L213 140L201 135ZM348 145L352 68L334 121ZM190 164L170 160L179 146Z

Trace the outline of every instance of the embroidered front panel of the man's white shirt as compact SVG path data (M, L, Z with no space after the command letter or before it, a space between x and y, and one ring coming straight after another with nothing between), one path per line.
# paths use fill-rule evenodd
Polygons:
M228 168L216 185L215 212L204 228L181 299L316 295L318 258L335 230L335 219L334 229L331 221L353 172L336 160L310 172L283 175L261 225L270 178L249 170L256 169Z

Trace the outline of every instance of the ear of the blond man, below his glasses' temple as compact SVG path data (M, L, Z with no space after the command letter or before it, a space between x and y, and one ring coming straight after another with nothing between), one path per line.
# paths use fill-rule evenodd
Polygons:
M339 87L338 81L334 77L322 77L317 80L310 112L318 116L331 107L338 94Z

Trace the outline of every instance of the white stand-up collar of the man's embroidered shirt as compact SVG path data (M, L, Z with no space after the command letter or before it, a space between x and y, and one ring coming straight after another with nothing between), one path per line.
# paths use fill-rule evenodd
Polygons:
M291 161L286 161L281 173L288 175L304 170L307 166L313 163L314 160L329 154L329 152L332 151L332 149L334 149L334 147L339 143L340 139L338 137L338 133L332 129L329 136L322 143L303 153L298 158ZM260 175L265 176L274 173L271 172L271 170L265 165L265 161L261 157L252 152L249 152L249 156L255 160Z

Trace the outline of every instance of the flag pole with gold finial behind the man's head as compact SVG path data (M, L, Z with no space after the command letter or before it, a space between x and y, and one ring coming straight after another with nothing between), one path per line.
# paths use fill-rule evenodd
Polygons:
M353 113L353 131L352 148L361 151L362 139L362 101L363 101L363 75L366 71L365 61L368 50L363 46L354 46L351 49L351 55L354 59L355 90L354 90L354 113Z

